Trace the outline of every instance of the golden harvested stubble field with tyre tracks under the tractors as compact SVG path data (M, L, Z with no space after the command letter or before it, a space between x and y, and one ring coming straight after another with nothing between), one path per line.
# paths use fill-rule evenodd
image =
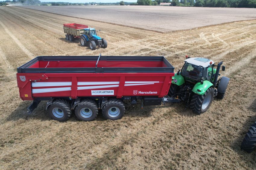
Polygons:
M108 48L65 40L63 23L101 29ZM256 20L157 33L20 7L0 7L0 169L255 169L240 150L256 121ZM181 68L185 55L223 61L230 77L223 100L201 115L185 104L134 107L117 121L51 120L41 102L27 115L16 67L38 55L164 55Z

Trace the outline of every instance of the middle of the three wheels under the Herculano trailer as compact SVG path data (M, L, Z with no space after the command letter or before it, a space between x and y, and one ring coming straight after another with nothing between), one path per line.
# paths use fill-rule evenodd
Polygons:
M75 115L81 121L93 121L98 116L98 106L95 101L84 99L76 106Z

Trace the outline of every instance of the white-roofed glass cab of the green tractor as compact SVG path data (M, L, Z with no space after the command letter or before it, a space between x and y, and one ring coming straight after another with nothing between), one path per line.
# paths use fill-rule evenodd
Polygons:
M212 81L216 69L214 69L214 62L207 58L189 58L186 57L180 74L185 81L193 84L204 80Z

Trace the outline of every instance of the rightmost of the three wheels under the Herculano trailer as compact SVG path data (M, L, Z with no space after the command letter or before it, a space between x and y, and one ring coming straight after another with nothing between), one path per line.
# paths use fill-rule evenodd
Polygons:
M125 107L121 100L110 99L102 108L102 115L106 119L117 120L123 117Z

